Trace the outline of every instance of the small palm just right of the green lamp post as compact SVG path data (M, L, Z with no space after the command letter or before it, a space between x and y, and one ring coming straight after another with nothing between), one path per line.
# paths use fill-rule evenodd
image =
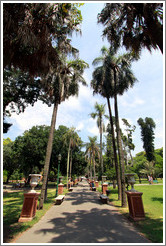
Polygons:
M68 155L67 155L67 188L68 188L68 177L71 178L71 170L72 170L72 152L73 149L79 145L81 139L79 138L77 132L75 132L75 128L71 127L63 136L64 144L68 145ZM69 172L69 162L70 162L70 172Z

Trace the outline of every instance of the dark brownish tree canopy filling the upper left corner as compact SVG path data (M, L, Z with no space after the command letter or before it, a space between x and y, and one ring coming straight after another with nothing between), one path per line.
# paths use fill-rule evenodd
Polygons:
M58 50L71 53L69 35L79 32L78 4L4 3L4 67L14 66L31 75L46 75L59 64Z

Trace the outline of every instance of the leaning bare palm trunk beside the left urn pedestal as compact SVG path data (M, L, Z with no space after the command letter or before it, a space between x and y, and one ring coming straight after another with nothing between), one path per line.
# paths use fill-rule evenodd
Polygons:
M47 143L46 159L45 159L45 165L44 165L44 171L43 171L43 184L42 184L42 189L41 189L39 209L43 208L43 203L44 203L46 183L47 183L47 177L48 177L48 170L49 170L51 153L52 153L52 144L53 144L57 110L58 110L58 103L54 103L52 120L51 120L51 128L50 128L50 133L49 133L49 138L48 138L48 143Z

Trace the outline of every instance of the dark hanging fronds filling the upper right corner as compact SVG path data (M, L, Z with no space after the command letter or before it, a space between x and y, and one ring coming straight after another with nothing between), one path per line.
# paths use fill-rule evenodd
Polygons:
M159 47L163 53L163 3L107 3L98 22L116 49L124 45L138 54Z

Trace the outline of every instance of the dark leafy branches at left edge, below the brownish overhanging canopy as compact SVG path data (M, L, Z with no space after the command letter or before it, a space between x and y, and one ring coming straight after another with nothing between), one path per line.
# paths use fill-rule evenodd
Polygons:
M24 112L25 108L39 99L42 93L39 79L35 79L28 72L20 69L4 69L3 73L3 116L11 116ZM4 122L3 132L8 131L9 123Z

